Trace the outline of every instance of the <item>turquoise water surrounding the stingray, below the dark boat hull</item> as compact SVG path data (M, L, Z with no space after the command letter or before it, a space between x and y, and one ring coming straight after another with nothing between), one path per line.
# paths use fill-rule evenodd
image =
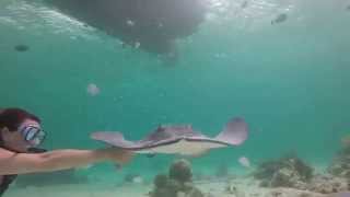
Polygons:
M1 105L42 117L49 149L103 147L89 138L96 130L141 139L160 124L189 123L214 136L243 116L249 139L194 159L196 167L240 167L242 155L260 162L291 151L327 164L350 131L350 2L209 2L206 21L178 40L179 59L168 65L40 2L2 0ZM288 20L271 25L279 13ZM15 51L19 44L30 50ZM90 83L100 94L86 92ZM136 157L126 171L158 172L173 159Z

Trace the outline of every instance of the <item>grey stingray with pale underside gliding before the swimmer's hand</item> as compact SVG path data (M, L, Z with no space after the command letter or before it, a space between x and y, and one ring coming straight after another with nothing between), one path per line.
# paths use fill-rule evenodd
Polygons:
M248 137L248 127L243 118L232 118L214 138L194 130L191 125L160 126L139 141L126 140L121 132L98 131L91 137L136 153L200 155L210 149L242 144Z

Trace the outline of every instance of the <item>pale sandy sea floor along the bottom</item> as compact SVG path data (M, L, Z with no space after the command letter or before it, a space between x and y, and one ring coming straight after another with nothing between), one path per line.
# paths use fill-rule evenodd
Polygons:
M318 173L324 172L323 166L315 169ZM203 192L205 197L338 197L293 188L260 187L258 181L246 175L231 178L212 177L194 183ZM4 197L147 197L152 189L151 181L127 184L96 182L95 184L60 184L22 188L12 186Z

